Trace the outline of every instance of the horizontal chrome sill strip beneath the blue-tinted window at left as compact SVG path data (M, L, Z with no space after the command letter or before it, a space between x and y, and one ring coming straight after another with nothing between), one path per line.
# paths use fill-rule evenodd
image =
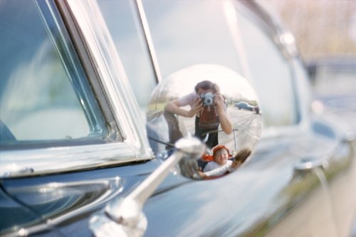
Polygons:
M1 151L0 157L0 177L3 178L70 172L147 159L144 155L135 154L125 142ZM19 170L19 167L22 169ZM23 169L28 172L23 172Z

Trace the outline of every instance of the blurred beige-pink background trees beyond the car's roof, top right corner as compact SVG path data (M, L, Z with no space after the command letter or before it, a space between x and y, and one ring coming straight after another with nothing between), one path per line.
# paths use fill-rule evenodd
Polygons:
M294 34L305 60L356 55L356 1L269 1Z

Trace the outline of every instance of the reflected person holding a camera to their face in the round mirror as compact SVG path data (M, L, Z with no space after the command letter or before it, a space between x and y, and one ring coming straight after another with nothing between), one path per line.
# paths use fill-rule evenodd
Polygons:
M181 108L186 105L190 105L191 109L184 110ZM167 112L183 117L193 117L195 115L195 136L204 139L206 134L209 134L206 145L212 148L219 144L219 125L221 125L221 129L226 134L232 132L232 125L229 115L227 115L226 107L224 96L221 95L219 86L209 80L204 80L195 85L192 93L168 102L164 107L164 117L166 117L166 120L169 118L169 113ZM174 120L171 117L171 119L167 120L167 122L169 121ZM174 130L174 127L171 127L171 129ZM177 137L172 138L176 139Z

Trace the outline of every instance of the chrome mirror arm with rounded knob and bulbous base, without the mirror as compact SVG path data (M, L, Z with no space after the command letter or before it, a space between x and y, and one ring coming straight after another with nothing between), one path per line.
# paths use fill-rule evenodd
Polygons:
M177 150L128 196L111 201L90 218L89 228L95 236L143 236L147 218L142 207L147 199L182 159L195 161L206 151L206 145L192 136L179 139L175 147Z

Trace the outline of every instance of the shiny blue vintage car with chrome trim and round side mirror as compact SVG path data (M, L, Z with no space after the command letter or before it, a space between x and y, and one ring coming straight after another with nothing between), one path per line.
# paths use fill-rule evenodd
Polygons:
M1 236L350 235L355 141L262 1L5 0L0 43ZM202 80L198 138L167 105ZM203 179L216 135L252 153Z

